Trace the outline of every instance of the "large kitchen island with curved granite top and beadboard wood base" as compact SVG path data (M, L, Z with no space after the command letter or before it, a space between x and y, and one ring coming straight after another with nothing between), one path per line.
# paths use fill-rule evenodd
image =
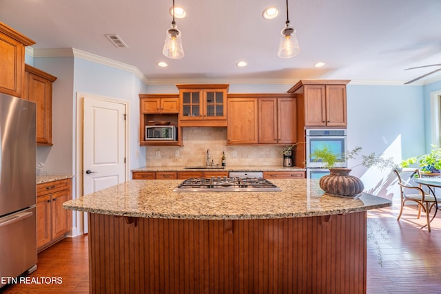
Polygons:
M173 192L132 180L79 199L89 213L91 293L365 293L369 209L318 180L276 192Z

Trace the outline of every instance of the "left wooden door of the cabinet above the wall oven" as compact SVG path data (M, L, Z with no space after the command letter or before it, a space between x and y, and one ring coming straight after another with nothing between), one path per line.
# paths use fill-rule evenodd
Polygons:
M305 85L305 126L326 126L325 85Z

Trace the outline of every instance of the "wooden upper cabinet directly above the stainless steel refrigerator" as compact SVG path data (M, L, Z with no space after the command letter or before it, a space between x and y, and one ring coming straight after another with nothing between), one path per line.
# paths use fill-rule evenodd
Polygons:
M35 44L27 36L0 23L0 92L21 97L25 75L25 46Z

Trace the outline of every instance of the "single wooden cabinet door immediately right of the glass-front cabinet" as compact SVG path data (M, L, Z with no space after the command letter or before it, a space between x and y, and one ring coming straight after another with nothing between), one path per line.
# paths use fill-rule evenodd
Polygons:
M227 144L257 144L257 119L257 98L228 98Z

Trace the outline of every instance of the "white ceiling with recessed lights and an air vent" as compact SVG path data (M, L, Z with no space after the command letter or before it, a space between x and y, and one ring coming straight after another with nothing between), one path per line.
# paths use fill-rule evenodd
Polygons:
M277 56L285 0L176 0L185 57L162 54L172 0L0 0L0 21L42 48L76 48L158 79L351 79L400 84L441 67L440 0L290 0L300 54ZM268 6L280 13L263 19ZM118 34L128 48L104 36ZM158 61L169 66L158 67ZM246 61L247 67L236 67ZM314 63L324 61L321 68ZM438 74L438 75L437 75ZM441 72L419 83L441 79Z

